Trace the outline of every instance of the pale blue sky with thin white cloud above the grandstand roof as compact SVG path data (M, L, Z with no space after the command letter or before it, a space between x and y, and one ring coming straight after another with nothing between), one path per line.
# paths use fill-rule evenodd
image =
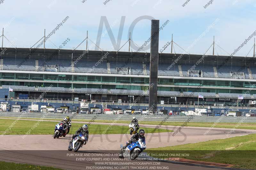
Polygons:
M190 54L204 54L212 44L213 35L216 43L231 54L256 30L256 2L252 0L213 0L206 9L203 6L209 1L205 0L190 0L184 7L182 4L185 0L111 0L106 5L103 2L105 1L86 0L82 3L82 0L72 2L68 0L4 0L0 4L0 27L4 27L4 35L13 42L14 46L29 48L43 36L44 29L46 34L50 33L68 16L63 26L50 37L49 41L46 41L46 48L56 48L55 45L59 47L69 38L70 41L63 48L72 49L83 41L87 30L89 38L96 42L102 16L106 16L109 25L113 25L111 30L117 39L121 17L125 16L121 47L128 40L132 22L138 17L150 16L159 19L160 25L166 20L170 21L160 31L159 50L171 41L172 33L174 41L187 49L218 18L218 22L209 32L189 49ZM105 30L104 25L102 33ZM142 45L150 37L150 20L139 21L132 34L132 40L139 46ZM88 46L91 50L95 49L90 41ZM241 48L236 56L245 56L252 46L253 39ZM4 40L4 47L13 46ZM174 47L176 53L183 52L177 46ZM84 48L85 43L77 49ZM100 48L116 50L113 49L108 33L101 38ZM128 51L128 44L121 51ZM170 47L165 50L166 53L170 51ZM219 48L216 48L216 53L228 55ZM252 51L249 56L252 56Z

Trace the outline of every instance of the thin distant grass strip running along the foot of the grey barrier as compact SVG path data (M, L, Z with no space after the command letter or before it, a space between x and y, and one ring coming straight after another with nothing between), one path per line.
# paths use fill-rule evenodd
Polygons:
M65 116L65 115L64 115ZM3 118L13 118L13 117L3 117ZM1 119L1 117L0 117ZM38 118L21 118L21 119L38 119ZM171 118L170 118L171 119ZM62 119L44 119L44 120L62 120ZM90 119L72 119L72 121L86 122L89 123ZM112 123L112 120L94 120L94 122L106 122ZM116 123L130 123L131 121L116 121ZM155 121L139 121L139 124L151 124L157 125L161 122ZM164 122L163 125L172 125L172 126L181 126L184 122ZM194 126L194 127L211 127L214 122L189 122L186 126ZM229 122L219 122L217 123L215 128L234 128L237 122L229 123ZM237 129L254 129L256 130L256 123L245 123L243 122Z

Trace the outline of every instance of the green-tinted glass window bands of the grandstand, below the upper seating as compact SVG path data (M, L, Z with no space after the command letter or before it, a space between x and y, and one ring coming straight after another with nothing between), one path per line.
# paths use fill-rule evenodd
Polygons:
M140 77L113 77L113 76L86 76L86 75L66 75L66 74L28 74L28 73L0 73L1 79L13 79L16 81L2 81L1 85L26 85L49 87L65 87L65 88L104 88L104 89L127 89L127 90L147 90L149 78ZM24 80L30 80L24 82ZM239 79L241 80L241 79ZM39 82L35 82L39 81ZM41 82L40 82L41 81ZM45 82L51 81L51 82ZM67 83L61 82L67 81ZM72 82L84 82L73 84ZM99 84L90 84L90 82ZM103 85L104 83L108 85ZM124 84L124 85L122 85ZM244 93L246 89L235 88L255 88L250 93L256 91L256 82L245 81L227 81L227 80L198 80L198 79L174 79L174 78L158 78L159 91L178 91L178 92L215 92L215 93ZM162 87L159 85L165 85ZM197 89L197 86L201 88ZM168 87L169 86L169 87ZM172 87L170 87L172 86ZM174 87L173 87L174 86ZM182 86L182 87L181 87ZM209 88L209 87L214 88ZM216 87L216 88L215 88ZM225 88L222 88L225 87Z

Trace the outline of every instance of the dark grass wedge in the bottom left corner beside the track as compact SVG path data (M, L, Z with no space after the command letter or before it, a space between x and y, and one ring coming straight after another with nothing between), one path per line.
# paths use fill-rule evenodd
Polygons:
M30 164L16 164L13 162L0 162L0 169L5 170L24 170L24 169L34 169L34 170L62 170L59 168L47 167L47 166L36 166Z

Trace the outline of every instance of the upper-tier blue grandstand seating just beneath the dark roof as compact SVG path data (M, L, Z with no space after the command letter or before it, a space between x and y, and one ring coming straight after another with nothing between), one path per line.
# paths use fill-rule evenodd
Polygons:
M90 60L79 60L74 63L74 72L78 73L101 73L108 74L107 62L103 61L96 64L98 61ZM116 68L130 68L130 72L127 74L133 75L143 75L143 63L139 62L110 62L110 73L116 74ZM45 66L56 66L56 69L47 69ZM146 72L149 75L149 63L145 63ZM94 66L94 67L93 67ZM180 76L180 70L178 64L169 67L170 63L159 63L158 65L158 75L159 76ZM193 64L182 64L181 71L184 77L189 76L188 70L192 68ZM58 70L57 70L58 68ZM252 72L252 78L256 79L256 69L250 68ZM29 58L3 58L3 70L23 70L23 71L36 71L36 59ZM215 73L213 66L198 64L194 70L201 70L201 77L215 78ZM58 72L72 72L71 60L67 59L38 59L38 71L58 71ZM219 78L237 78L232 77L230 72L243 72L244 77L249 79L250 74L247 68L242 68L240 66L223 66L218 70Z

